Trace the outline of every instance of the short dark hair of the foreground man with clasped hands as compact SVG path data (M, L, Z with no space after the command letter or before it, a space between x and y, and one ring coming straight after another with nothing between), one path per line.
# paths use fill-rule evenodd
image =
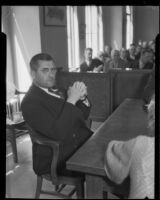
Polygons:
M31 58L31 61L29 63L31 70L33 70L33 71L37 70L38 64L39 64L38 61L40 61L40 60L42 60L42 61L53 61L54 62L53 58L49 54L46 54L46 53L36 54L35 56L33 56Z

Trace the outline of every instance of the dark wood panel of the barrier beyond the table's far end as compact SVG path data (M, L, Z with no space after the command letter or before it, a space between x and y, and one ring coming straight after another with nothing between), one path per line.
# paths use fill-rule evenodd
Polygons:
M150 72L150 70L112 72L112 111L125 98L142 98Z

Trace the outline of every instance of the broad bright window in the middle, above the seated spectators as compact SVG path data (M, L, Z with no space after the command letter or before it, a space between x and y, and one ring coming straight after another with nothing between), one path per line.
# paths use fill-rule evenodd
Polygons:
M86 6L86 47L93 49L93 57L97 56L99 51L103 51L103 23L102 7Z

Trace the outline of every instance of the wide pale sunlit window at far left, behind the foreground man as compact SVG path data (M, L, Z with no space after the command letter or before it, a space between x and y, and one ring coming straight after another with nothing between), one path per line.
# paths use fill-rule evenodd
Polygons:
M7 13L3 21L8 42L6 78L10 80L13 77L11 81L17 89L27 91L32 83L29 73L30 58L41 52L39 7L4 6L3 9Z

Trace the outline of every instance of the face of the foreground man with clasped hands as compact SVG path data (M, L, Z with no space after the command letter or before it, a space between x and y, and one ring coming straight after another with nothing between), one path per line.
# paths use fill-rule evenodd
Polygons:
M37 71L32 71L33 82L38 86L49 88L55 85L57 68L53 61L39 60Z

